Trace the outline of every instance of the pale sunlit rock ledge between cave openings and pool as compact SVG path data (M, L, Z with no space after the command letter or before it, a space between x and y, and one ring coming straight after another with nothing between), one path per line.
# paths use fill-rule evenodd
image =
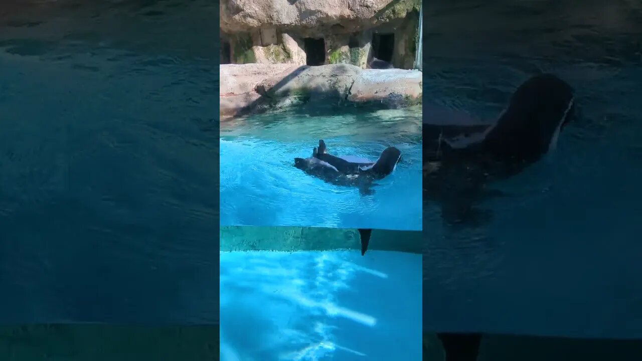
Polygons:
M402 108L422 101L422 72L361 69L350 64L224 64L220 72L221 120L302 103L336 102Z

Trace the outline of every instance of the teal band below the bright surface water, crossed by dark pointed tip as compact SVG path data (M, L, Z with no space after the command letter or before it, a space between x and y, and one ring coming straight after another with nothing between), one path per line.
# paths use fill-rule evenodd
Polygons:
M323 227L248 227L231 225L220 228L220 251L334 251L361 249L356 229ZM370 250L421 254L421 231L374 229ZM367 254L367 253L366 253Z

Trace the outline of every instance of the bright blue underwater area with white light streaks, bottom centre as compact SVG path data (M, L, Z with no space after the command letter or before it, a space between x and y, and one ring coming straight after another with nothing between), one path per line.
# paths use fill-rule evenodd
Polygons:
M421 254L221 252L221 361L421 360Z

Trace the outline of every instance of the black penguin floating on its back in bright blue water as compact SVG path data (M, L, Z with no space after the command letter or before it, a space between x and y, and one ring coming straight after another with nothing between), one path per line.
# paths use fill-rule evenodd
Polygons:
M327 153L325 142L319 141L309 158L295 158L294 166L320 179L340 186L358 186L362 194L370 194L374 180L383 179L395 170L401 152L390 146L381 152L377 161L344 155L336 157Z

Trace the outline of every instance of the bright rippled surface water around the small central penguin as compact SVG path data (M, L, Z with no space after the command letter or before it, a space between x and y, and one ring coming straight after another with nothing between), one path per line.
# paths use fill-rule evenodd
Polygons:
M421 230L421 107L261 114L221 125L221 225ZM395 171L371 195L294 167L324 139L333 155L376 161L401 150Z

